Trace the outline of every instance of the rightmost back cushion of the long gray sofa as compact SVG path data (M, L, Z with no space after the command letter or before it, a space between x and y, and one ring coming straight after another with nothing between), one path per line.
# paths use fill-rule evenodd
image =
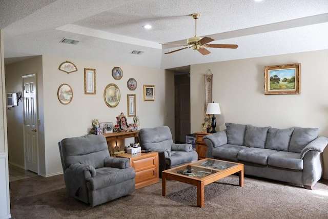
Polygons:
M318 128L295 127L289 146L290 152L301 153L303 148L318 137Z

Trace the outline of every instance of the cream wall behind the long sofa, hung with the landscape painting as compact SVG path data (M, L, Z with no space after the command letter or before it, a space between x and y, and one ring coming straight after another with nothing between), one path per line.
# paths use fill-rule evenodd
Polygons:
M212 101L220 104L216 130L227 122L274 128L314 127L328 136L328 50L191 66L191 133L201 130L204 76L213 73ZM264 95L264 66L300 63L301 94ZM328 149L323 152L328 178Z

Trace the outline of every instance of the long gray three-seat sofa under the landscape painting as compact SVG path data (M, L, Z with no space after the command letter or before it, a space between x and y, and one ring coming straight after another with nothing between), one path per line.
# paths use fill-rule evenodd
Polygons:
M226 123L227 129L203 137L206 156L244 164L244 174L303 185L323 174L322 152L328 138L317 128L277 129Z

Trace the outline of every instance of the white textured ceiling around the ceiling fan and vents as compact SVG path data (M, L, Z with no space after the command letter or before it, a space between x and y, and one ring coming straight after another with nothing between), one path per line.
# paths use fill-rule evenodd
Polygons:
M328 49L327 0L23 0L0 2L5 64L35 55L155 68ZM182 47L195 35L237 49ZM142 28L152 25L152 29ZM59 43L63 38L77 45ZM133 50L144 51L141 55Z

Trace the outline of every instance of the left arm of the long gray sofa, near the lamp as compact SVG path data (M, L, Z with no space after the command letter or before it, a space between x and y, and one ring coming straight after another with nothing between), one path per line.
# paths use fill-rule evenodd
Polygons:
M206 157L213 158L212 150L213 148L225 145L228 143L227 130L222 130L213 134L208 134L203 137L206 143Z

